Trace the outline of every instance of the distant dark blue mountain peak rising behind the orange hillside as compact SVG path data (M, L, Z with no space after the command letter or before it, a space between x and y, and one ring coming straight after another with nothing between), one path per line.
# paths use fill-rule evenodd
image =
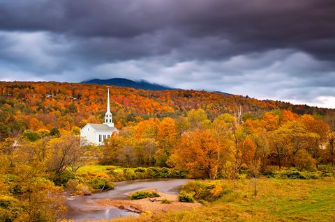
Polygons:
M82 84L99 84L99 85L107 85L107 86L123 86L135 89L143 89L143 90L171 90L168 86L162 86L158 84L151 84L148 81L133 81L131 79L124 78L112 78L112 79L90 79L87 81L82 81Z

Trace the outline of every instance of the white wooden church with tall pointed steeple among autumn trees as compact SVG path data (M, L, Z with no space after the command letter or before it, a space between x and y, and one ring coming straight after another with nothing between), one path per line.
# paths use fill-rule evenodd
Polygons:
M119 134L119 129L114 127L112 113L110 112L110 89L107 90L107 112L103 124L87 123L80 129L82 144L103 145L106 138L112 134Z

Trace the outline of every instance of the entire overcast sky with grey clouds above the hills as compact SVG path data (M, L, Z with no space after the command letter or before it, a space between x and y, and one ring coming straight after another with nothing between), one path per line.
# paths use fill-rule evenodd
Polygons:
M335 108L335 1L0 0L0 80L112 77Z

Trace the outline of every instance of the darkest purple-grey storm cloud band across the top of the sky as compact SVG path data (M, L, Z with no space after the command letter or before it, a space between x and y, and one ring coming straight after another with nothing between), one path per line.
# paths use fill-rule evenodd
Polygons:
M142 35L150 41L157 33L169 35L172 30L180 36L159 42L161 47L178 47L186 37L216 37L236 46L209 56L296 48L328 59L335 51L334 11L333 0L16 0L1 1L0 29L129 42L138 38L138 43ZM149 56L156 51L140 52Z

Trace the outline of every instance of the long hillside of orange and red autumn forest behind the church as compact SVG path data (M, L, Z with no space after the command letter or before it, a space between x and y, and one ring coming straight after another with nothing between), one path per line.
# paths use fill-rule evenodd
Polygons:
M335 111L311 106L295 106L248 96L226 95L197 90L135 90L110 87L111 111L121 129L144 119L186 116L191 109L203 109L214 120L221 113L237 113L242 119L260 117L265 111L288 109L299 115L322 118L332 129ZM102 122L106 106L106 86L57 82L0 82L0 139L31 129L73 129L87 122Z

